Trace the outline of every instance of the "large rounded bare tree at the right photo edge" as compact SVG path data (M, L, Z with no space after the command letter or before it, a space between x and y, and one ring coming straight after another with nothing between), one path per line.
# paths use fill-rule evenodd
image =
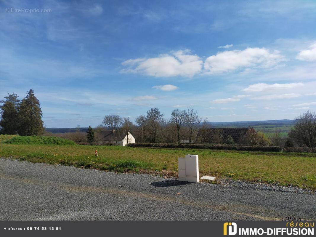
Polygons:
M289 132L289 137L298 144L315 147L316 114L310 111L300 114L295 120L294 128Z

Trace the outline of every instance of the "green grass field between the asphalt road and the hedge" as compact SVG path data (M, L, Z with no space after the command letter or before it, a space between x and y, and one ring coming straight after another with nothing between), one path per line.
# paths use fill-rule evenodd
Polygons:
M6 140L1 138L2 140ZM176 175L177 158L199 155L200 175L293 185L316 190L316 154L220 151L205 149L155 149L120 146L8 144L1 157L22 161L62 164L117 172L149 172Z

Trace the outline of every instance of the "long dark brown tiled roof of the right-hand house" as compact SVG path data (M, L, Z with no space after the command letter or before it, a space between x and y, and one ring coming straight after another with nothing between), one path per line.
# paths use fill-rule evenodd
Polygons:
M211 143L213 141L213 134L221 134L223 137L223 140L226 140L226 138L230 135L233 137L234 141L238 141L239 138L246 134L249 127L247 128L199 128L197 131L197 137L196 141L198 139L203 138L205 142Z

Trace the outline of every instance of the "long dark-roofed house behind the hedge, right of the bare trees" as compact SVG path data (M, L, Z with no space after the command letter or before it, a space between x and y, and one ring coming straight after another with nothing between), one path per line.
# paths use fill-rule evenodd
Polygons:
M195 143L225 143L230 135L235 143L240 142L250 126L247 128L199 128Z

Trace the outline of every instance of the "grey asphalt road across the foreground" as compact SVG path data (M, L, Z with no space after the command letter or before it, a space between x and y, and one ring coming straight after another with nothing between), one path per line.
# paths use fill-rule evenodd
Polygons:
M315 220L315 204L313 194L0 158L0 220Z

